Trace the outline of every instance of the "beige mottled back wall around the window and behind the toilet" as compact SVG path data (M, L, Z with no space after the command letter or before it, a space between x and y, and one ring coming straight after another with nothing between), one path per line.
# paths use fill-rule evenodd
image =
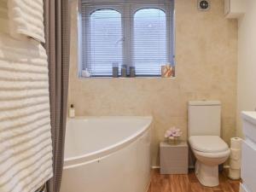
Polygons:
M153 166L159 165L159 143L171 126L187 138L187 102L222 102L222 135L236 135L237 21L224 19L224 1L212 1L208 12L197 0L177 0L175 79L79 79L76 1L72 7L69 104L77 115L152 115ZM252 0L253 1L253 0Z

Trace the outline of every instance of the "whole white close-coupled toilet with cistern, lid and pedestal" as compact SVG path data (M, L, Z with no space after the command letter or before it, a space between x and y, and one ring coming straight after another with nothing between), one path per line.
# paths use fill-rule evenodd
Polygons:
M189 146L195 154L195 175L207 187L218 186L218 165L229 158L230 148L220 137L221 103L189 102Z

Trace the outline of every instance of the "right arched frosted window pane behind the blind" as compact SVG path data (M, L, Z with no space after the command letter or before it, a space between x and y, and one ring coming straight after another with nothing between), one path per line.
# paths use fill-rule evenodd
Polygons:
M159 75L166 64L166 13L161 9L139 9L133 17L132 63L138 75Z

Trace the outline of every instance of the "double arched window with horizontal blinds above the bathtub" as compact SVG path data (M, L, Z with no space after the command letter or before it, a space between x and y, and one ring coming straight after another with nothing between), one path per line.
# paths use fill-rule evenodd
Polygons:
M119 73L126 65L160 76L161 65L174 65L173 14L173 0L82 0L81 68L108 77L119 63Z

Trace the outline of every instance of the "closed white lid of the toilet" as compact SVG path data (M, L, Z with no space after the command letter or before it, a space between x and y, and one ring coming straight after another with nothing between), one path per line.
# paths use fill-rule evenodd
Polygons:
M227 143L218 136L191 136L189 137L191 148L201 152L223 152L229 149Z

